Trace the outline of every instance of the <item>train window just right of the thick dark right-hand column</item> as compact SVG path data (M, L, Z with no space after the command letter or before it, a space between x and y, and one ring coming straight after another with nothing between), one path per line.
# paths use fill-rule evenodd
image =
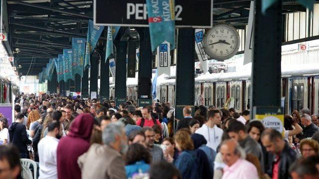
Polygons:
M304 107L304 84L292 85L292 110L300 111Z

